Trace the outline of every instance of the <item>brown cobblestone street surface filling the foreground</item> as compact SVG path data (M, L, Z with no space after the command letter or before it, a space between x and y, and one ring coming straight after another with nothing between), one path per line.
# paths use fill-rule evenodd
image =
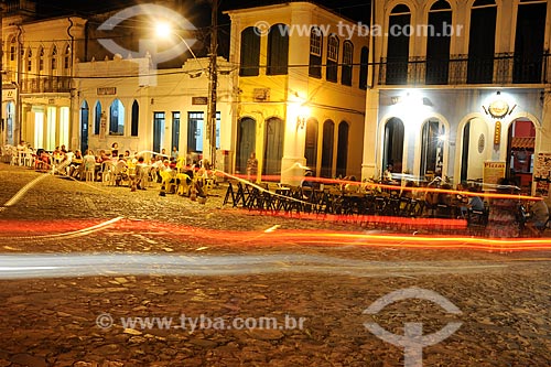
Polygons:
M0 203L42 176L0 164ZM137 276L98 269L91 277L0 280L0 367L403 366L403 349L376 337L365 322L377 322L396 334L403 334L404 323L418 322L428 334L453 321L461 321L461 328L423 348L424 366L551 366L549 251L272 241L264 230L273 226L296 231L365 229L353 223L222 207L224 188L214 194L201 205L175 195L160 197L155 186L130 192L45 176L18 203L4 207L1 257L24 259L30 252L310 257L303 263L277 261L270 271L244 266L239 273L223 276ZM98 231L52 236L119 216L123 218ZM227 240L209 238L228 230L234 235ZM234 230L242 231L242 238ZM333 262L310 262L316 257ZM348 267L348 261L356 266ZM449 314L425 300L399 301L376 315L363 313L377 299L411 287L442 294L462 314ZM302 328L192 332L181 324L183 314L223 317L226 323L264 316L283 323L292 316L304 317L304 323ZM104 316L112 325L98 324ZM175 324L125 327L125 317L172 317Z

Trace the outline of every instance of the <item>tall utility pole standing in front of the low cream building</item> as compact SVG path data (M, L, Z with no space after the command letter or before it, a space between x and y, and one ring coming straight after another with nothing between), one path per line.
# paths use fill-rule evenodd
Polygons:
M207 136L210 153L210 165L216 169L216 89L218 86L218 69L216 65L218 48L218 0L213 0L210 14L210 57L208 64L208 106Z

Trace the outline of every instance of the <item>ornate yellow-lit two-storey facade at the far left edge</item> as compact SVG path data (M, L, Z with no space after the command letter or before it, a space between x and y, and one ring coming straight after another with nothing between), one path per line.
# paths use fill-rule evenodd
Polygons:
M2 143L53 150L75 143L73 65L84 54L86 20L34 20L34 3L9 1L2 19Z

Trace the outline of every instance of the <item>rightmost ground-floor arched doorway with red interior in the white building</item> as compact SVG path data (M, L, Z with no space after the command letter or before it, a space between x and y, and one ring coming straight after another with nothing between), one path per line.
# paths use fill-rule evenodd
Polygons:
M507 133L506 175L523 192L531 191L536 147L536 127L527 118L519 118L509 125Z

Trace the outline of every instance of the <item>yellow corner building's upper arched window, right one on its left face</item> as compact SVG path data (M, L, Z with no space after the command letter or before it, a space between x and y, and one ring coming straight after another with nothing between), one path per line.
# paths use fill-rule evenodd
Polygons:
M267 75L285 75L289 66L289 26L273 24L268 34Z

